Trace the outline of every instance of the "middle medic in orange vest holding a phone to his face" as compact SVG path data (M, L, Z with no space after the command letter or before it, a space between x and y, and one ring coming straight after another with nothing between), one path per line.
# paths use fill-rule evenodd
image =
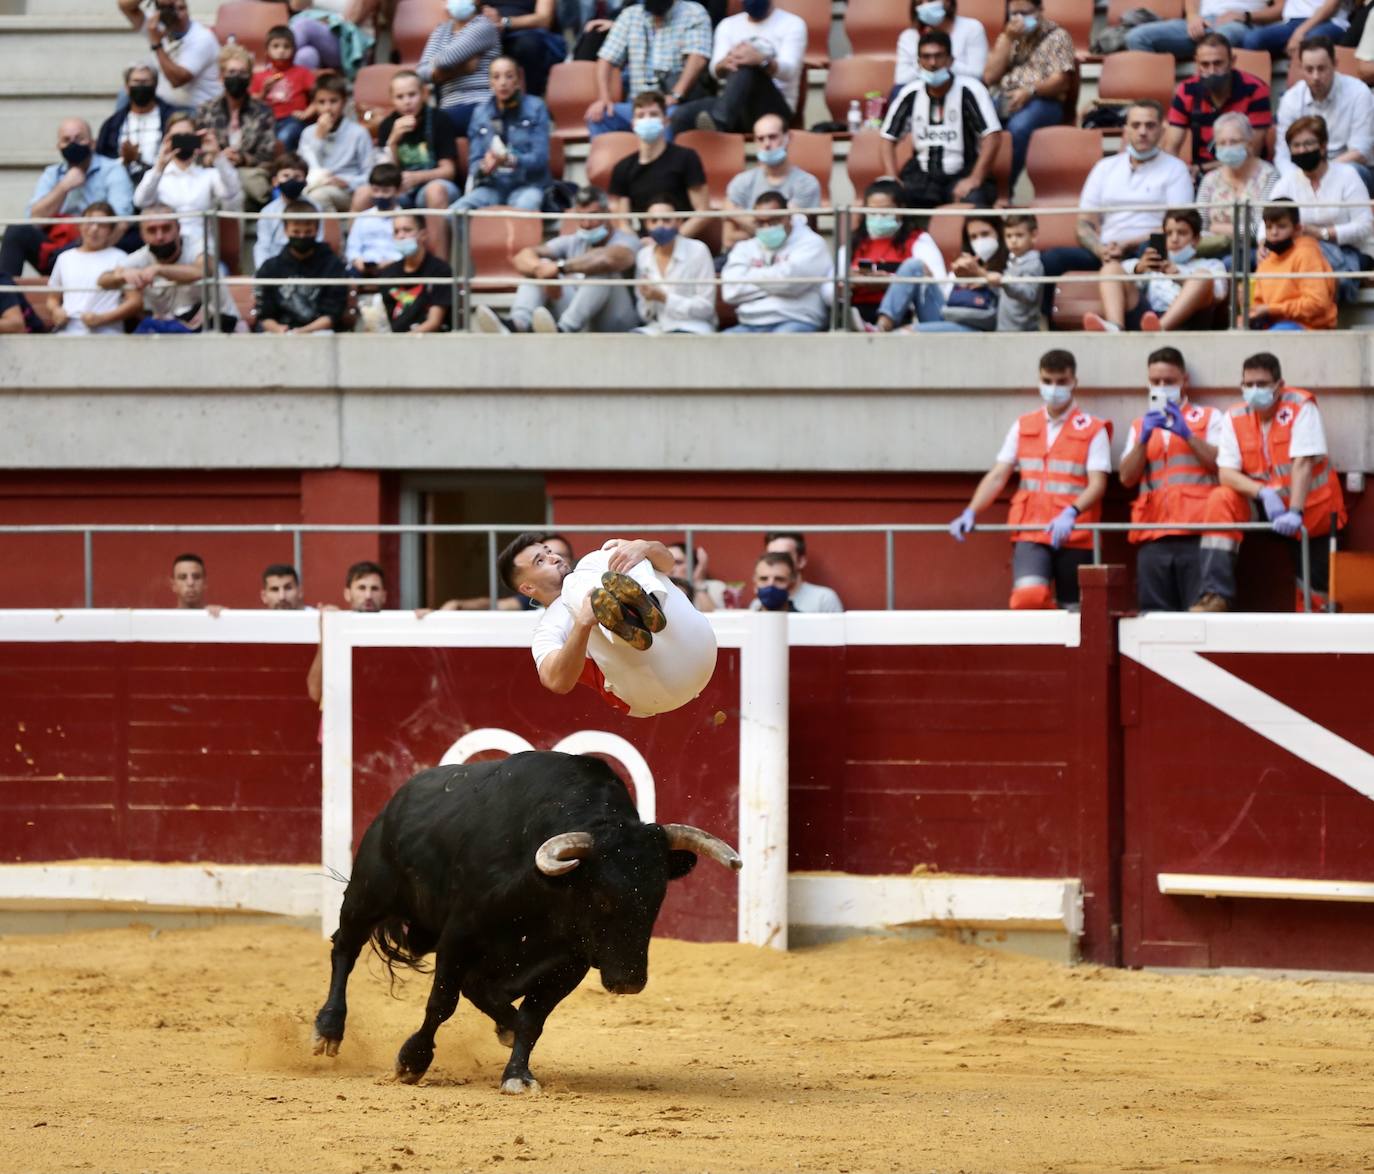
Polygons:
M1131 425L1121 454L1121 484L1139 485L1134 522L1201 522L1216 488L1221 412L1189 403L1183 355L1161 346L1147 360L1150 410ZM1131 531L1142 612L1184 612L1202 594L1202 535L1198 531Z

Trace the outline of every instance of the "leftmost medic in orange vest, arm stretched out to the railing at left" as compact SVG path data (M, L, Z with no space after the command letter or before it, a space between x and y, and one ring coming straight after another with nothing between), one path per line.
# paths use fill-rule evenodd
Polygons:
M1047 351L1040 357L1044 407L1011 425L996 463L978 483L967 509L949 522L951 536L963 542L978 513L1006 488L1011 470L1020 473L1007 516L1011 525L1026 527L1011 535L1014 609L1077 603L1079 568L1092 561L1092 535L1076 525L1102 517L1102 494L1112 472L1112 425L1074 404L1077 373L1068 351Z

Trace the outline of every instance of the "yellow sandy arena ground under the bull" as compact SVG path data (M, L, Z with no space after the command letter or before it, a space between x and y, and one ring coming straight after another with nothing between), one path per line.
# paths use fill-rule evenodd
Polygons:
M365 955L368 957L368 955ZM655 943L584 984L544 1093L469 1004L390 1078L426 979L282 925L0 939L0 1170L1370 1170L1374 986L1062 968L947 942Z

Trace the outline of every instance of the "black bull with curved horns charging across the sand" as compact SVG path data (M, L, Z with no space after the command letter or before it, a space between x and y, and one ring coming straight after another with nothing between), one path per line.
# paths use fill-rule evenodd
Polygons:
M315 1017L316 1054L338 1053L348 977L371 939L389 966L436 955L425 1021L397 1053L397 1078L425 1075L434 1032L463 994L511 1045L502 1092L537 1092L529 1056L544 1020L594 966L614 994L643 990L668 881L690 873L698 852L741 867L697 828L640 822L599 759L530 751L420 771L363 836Z

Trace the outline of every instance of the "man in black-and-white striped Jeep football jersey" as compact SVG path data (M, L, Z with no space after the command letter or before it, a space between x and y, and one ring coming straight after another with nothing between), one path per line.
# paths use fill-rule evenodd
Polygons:
M897 143L911 135L915 150L900 172L904 206L988 208L996 198L992 162L1002 132L992 99L981 81L951 71L947 33L933 29L922 34L918 59L921 77L903 88L882 122L883 173L899 175Z

